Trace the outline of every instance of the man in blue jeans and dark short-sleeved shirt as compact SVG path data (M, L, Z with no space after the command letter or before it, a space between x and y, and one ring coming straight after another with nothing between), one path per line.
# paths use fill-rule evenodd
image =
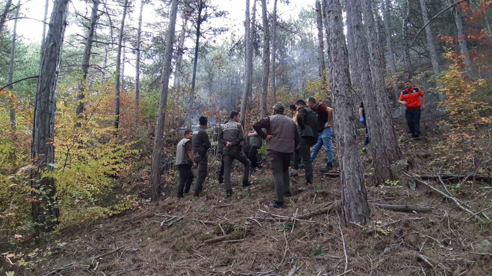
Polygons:
M314 110L314 112L318 115L317 131L319 133L319 137L318 142L312 148L311 162L313 162L318 155L321 146L324 146L326 154L328 155L328 162L326 163L326 168L321 169L320 172L329 172L333 167L333 109L323 104L316 103L316 99L313 97L307 99L307 106Z

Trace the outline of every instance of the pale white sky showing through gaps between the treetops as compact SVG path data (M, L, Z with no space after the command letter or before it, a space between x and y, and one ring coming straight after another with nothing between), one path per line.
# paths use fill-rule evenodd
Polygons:
M154 3L157 3L162 0L152 0ZM17 0L13 0L12 2L16 3ZM53 0L49 0L50 6L48 8L48 22L49 17L51 15L51 9L53 6ZM91 1L90 5L92 5ZM138 25L138 10L140 8L140 0L130 0L132 5L135 6L134 14L129 17L129 20L125 22L125 25L133 25L135 28ZM277 1L277 17L287 20L291 17L295 18L299 14L299 11L304 8L313 8L314 0L290 0L288 5L284 4L281 0ZM215 26L227 26L230 28L230 31L236 31L244 33L244 25L243 22L245 20L245 10L246 10L246 1L245 0L212 0L212 3L217 5L220 9L226 10L229 12L227 18L225 19L214 19ZM252 8L253 0L250 0L250 8ZM21 0L21 16L30 17L37 20L43 20L44 15L44 4L45 0ZM267 0L268 10L269 12L273 11L273 0ZM72 0L69 6L69 11L73 12L77 9L80 12L85 13L86 8L89 9L88 13L90 15L91 6L86 6L85 0ZM148 23L152 23L153 20L157 17L154 5L145 5L143 10L143 30L146 30L146 25ZM257 14L256 18L261 22L261 1L258 0L256 4ZM13 21L9 21L9 26L13 27ZM182 21L177 21L176 31L181 31ZM189 25L188 25L189 26ZM151 30L151 29L147 29ZM39 43L41 41L41 34L43 31L43 23L31 20L31 19L21 19L17 22L17 35L20 36L21 40L26 44L30 43ZM74 33L80 33L81 29L75 26L74 24L69 24L65 36ZM227 35L227 34L225 34ZM220 42L220 39L217 40ZM188 38L186 44L189 44L189 47L193 47L194 41ZM127 56L128 58L132 58L131 56ZM133 66L133 62L128 62ZM129 76L133 76L131 70L125 70Z

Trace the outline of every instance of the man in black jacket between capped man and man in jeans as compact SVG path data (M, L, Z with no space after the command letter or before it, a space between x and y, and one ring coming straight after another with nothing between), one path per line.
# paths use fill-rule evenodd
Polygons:
M311 163L311 146L318 140L318 132L316 126L318 123L318 116L310 109L304 100L298 100L296 102L297 125L299 129L299 135L301 141L297 146L296 154L301 159L304 169L306 171L306 184L312 184L312 163ZM296 159L296 158L294 158Z

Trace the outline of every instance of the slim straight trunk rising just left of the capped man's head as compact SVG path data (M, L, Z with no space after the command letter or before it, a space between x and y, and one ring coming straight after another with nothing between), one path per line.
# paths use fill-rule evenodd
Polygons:
M261 0L263 19L263 77L261 79L260 117L267 116L268 74L270 73L270 30L268 28L267 1Z

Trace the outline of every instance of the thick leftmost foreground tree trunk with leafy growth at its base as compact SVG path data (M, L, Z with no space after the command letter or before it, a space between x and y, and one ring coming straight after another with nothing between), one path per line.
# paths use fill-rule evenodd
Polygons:
M51 142L55 139L56 86L62 61L68 2L55 0L53 3L34 102L31 158L33 165L39 169L31 173L31 187L35 189L32 192L31 214L34 222L41 223L41 231L53 230L60 216L54 198L55 180L42 175L44 170L53 171L51 164L55 163L55 146Z

